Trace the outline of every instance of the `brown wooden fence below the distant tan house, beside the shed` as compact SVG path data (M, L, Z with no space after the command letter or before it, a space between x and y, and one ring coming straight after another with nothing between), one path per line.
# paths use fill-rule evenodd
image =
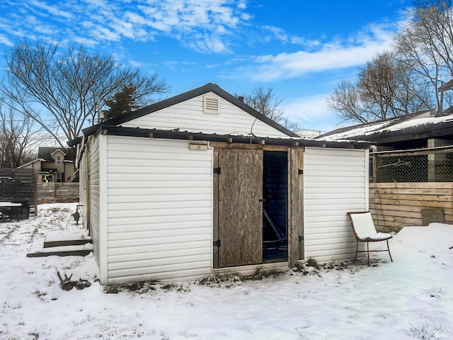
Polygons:
M38 183L38 204L79 202L79 183Z

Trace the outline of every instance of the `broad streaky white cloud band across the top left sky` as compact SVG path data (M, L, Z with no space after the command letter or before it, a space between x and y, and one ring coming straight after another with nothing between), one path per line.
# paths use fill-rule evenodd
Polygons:
M86 39L90 45L105 40L146 42L164 35L199 52L228 52L231 37L251 18L242 0L67 0L58 5L52 0L10 1L18 11L4 21L22 28L28 38ZM33 24L24 22L26 16ZM0 27L0 33L5 32Z

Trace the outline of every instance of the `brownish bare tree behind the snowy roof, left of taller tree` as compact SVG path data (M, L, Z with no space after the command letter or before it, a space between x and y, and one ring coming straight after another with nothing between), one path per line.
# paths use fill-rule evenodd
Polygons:
M343 121L366 123L430 108L430 96L418 78L390 52L359 69L357 83L340 81L328 106Z

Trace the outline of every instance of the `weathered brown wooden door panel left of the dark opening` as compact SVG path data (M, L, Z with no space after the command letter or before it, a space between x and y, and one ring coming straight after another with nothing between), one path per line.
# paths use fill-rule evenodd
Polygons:
M219 149L219 267L263 262L263 150Z

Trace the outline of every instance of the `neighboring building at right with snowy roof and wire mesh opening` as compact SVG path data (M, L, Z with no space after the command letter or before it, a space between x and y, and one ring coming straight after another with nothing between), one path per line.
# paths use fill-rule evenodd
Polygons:
M319 139L377 144L372 155L376 182L453 181L453 110L402 115L333 130ZM379 158L379 159L377 159Z

